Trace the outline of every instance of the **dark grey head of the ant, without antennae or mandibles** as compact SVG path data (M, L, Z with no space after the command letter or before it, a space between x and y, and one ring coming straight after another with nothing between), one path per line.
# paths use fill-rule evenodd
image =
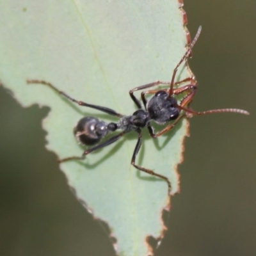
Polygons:
M178 118L180 114L178 103L174 97L169 97L164 91L157 92L147 102L148 114L154 122L160 125L167 124Z

